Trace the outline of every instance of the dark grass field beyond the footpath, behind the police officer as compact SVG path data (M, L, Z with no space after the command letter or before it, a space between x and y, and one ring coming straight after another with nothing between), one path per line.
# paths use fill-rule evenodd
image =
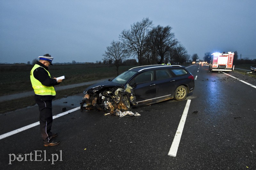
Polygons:
M32 65L1 65L0 96L32 91L30 82L30 70L32 67ZM132 67L121 66L119 67L119 73ZM115 77L117 75L116 67L109 67L103 64L53 65L49 68L49 72L51 77L65 75L65 80L59 86Z

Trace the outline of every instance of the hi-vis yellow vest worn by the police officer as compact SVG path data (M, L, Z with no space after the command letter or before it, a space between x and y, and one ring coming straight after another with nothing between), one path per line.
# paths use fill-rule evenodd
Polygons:
M34 92L36 95L41 95L41 96L45 96L45 95L52 95L55 96L56 92L53 86L44 86L39 80L37 80L34 77L34 70L39 66L38 64L35 64L35 66L32 68L32 70L30 71L30 81L32 84L32 87L34 89ZM44 68L44 67L43 67ZM44 68L45 69L45 68ZM45 69L46 70L46 69ZM47 70L46 70L47 71ZM47 71L48 72L48 71ZM51 77L50 73L48 72L48 75Z

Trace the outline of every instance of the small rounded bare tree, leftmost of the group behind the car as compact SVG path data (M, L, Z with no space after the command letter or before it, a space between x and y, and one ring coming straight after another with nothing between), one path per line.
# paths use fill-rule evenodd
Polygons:
M112 41L111 46L107 46L107 50L105 51L105 56L102 60L112 60L116 66L117 75L118 73L118 67L122 63L124 59L129 58L127 50L125 49L125 46L120 41ZM109 62L110 63L110 62Z

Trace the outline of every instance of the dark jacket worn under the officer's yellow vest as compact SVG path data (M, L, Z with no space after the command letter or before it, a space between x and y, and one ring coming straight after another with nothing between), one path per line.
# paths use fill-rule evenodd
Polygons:
M38 64L41 67L38 67L37 69L34 70L33 75L34 77L40 81L44 86L54 86L54 85L58 85L60 83L58 83L55 79L51 79L51 77L48 75L47 71L48 67L46 67L44 64L40 63L39 61L36 61L36 64ZM42 68L44 67L44 68ZM35 99L36 100L40 100L40 101L45 101L45 100L52 100L54 99L55 96L52 95L35 95Z

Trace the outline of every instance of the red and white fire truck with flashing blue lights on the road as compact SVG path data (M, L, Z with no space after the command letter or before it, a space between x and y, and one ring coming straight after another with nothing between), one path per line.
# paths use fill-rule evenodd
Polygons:
M232 71L234 53L212 53L209 71ZM232 68L233 67L233 68Z

